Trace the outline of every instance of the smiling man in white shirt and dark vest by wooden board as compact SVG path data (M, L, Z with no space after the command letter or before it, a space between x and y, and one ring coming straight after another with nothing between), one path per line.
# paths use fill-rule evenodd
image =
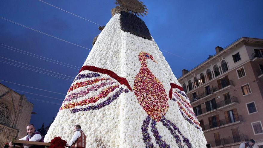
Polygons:
M36 131L36 128L33 124L29 124L27 126L27 134L24 138L21 138L19 140L25 140L25 141L36 141L36 142L44 142L43 136L40 134L40 132ZM32 145L32 144L23 144L24 148L40 148L39 145ZM9 143L9 148L14 147L12 145L12 141ZM19 145L16 145L16 147L22 147Z

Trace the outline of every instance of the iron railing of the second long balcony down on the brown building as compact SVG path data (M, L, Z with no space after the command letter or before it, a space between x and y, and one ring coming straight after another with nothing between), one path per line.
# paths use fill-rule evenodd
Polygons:
M206 112L210 112L211 110L218 109L218 108L220 108L222 106L225 106L227 104L234 103L234 102L238 103L238 99L237 99L237 97L232 96L229 99L222 100L222 101L216 103L215 105L213 105L214 108L204 108L204 109L202 109L202 112L197 112L196 116L202 115L202 114L204 114Z

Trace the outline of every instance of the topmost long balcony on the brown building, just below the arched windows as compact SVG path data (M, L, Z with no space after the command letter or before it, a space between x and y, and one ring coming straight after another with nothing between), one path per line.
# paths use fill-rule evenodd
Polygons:
M193 104L196 104L198 102L200 102L201 100L205 99L205 98L210 98L213 97L215 94L217 94L218 92L223 92L226 90L229 90L232 88L232 86L234 86L233 81L232 80L227 80L224 84L220 84L218 86L212 87L212 89L207 90L203 93L198 94L196 97L191 97L190 103L192 106L194 106Z

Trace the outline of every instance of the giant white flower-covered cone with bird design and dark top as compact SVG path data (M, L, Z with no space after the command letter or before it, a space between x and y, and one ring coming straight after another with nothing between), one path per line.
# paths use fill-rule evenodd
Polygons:
M69 141L80 124L86 147L202 148L189 99L144 22L115 14L68 90L45 141Z

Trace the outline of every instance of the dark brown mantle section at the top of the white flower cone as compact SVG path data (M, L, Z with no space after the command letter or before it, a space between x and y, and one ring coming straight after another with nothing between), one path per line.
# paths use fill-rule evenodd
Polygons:
M142 19L139 17L127 13L125 11L119 12L120 15L120 29L129 32L135 36L142 37L143 39L152 40L149 29L145 25Z

